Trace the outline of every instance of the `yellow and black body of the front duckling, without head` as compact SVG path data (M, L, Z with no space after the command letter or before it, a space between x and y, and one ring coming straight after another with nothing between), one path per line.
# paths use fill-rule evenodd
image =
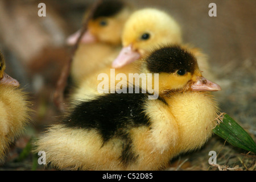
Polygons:
M105 105L96 101L83 103L73 113L79 118L72 115L72 121L51 127L39 140L37 150L45 151L48 162L59 169L157 170L166 167L170 158L180 152L203 146L211 136L211 121L217 115L216 105L207 94L177 94L168 101L172 107L160 100L146 102L147 96L134 95L110 94L96 100ZM188 103L197 99L205 102L195 103L197 110L191 115L187 107L175 108L180 106L179 97ZM125 98L128 103L123 101ZM131 103L139 99L141 102ZM205 107L208 110L202 112ZM182 118L176 119L181 113Z

